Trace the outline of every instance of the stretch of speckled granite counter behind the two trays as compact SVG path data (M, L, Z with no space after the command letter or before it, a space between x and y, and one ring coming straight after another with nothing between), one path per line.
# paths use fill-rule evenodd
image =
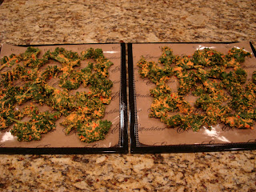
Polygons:
M2 42L222 42L255 40L255 1L10 1Z

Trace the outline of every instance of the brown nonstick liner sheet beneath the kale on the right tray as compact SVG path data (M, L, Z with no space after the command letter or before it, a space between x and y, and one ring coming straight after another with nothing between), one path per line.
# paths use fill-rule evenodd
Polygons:
M254 125L254 130L239 130L237 128L231 128L230 126L225 126L222 123L219 123L214 125L212 130L208 130L206 127L202 127L198 132L194 132L193 130L168 128L166 127L166 124L160 122L158 118L149 117L150 105L153 102L153 98L150 96L150 89L153 89L155 85L154 83L150 82L149 79L140 77L140 74L138 74L137 62L141 56L144 56L147 62L157 62L158 58L162 54L162 46L169 46L175 55L192 55L194 54L195 50L202 49L204 47L210 47L214 50L222 52L223 54L227 54L228 50L234 46L243 48L244 50L252 53L250 42L130 44L128 46L128 50L132 56L130 57L129 67L132 65L133 68L132 72L129 71L130 81L133 81L130 82L130 89L133 89L133 91L130 91L130 94L133 94L130 95L130 105L132 105L130 108L134 110L134 114L132 115L130 123L130 132L133 142L131 146L131 152L144 153L147 150L150 152L178 152L179 150L201 151L204 150L203 147L205 146L208 147L205 150L218 150L218 148L214 149L214 146L221 146L221 149L225 150L226 144L233 143L252 143L255 146L256 125ZM242 65L248 75L247 80L250 80L249 78L251 77L251 74L254 72L254 70L256 70L256 58L254 57L254 54L252 54L251 58L246 58L246 61ZM133 79L131 79L131 75ZM171 78L168 82L168 85L173 91L177 90L178 79ZM186 101L190 102L192 105L196 100L196 98L191 95L188 95L185 98ZM170 147L172 147L171 150ZM234 149L239 147L228 146L227 148Z

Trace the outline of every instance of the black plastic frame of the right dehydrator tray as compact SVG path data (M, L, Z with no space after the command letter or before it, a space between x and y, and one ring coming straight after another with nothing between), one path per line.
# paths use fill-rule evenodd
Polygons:
M231 44L235 42L148 42L150 43L219 43ZM170 145L170 146L147 146L139 143L136 146L138 134L136 130L137 106L135 106L134 95L134 61L133 61L133 44L143 43L128 43L128 75L129 75L129 107L130 107L130 153L131 154L160 154L160 153L194 153L194 152L212 152L225 150L256 150L256 141L254 142L232 142L224 144L194 144L194 145ZM256 51L250 42L254 57Z

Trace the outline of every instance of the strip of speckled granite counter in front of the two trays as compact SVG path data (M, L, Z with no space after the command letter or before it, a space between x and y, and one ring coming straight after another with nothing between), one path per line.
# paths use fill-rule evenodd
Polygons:
M255 153L1 155L6 191L255 191Z

